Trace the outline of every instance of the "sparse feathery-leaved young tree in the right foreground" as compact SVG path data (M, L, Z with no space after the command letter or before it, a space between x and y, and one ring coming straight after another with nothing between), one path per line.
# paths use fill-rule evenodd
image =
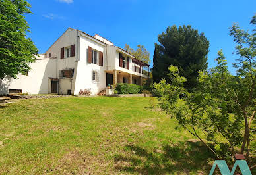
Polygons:
M236 148L249 157L256 113L256 36L241 30L237 24L230 28L230 35L238 44L236 76L228 71L226 57L220 50L217 66L199 71L193 92L183 88L186 79L179 75L176 66L168 68L170 84L166 80L154 84L160 107L176 117L216 157L226 160L234 160Z

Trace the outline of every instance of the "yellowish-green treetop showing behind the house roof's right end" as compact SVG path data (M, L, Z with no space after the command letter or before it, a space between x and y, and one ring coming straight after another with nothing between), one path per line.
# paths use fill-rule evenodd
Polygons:
M135 56L136 59L143 61L146 64L150 63L150 53L146 50L144 45L137 45L137 50L135 51L129 45L125 44L125 51L128 51Z

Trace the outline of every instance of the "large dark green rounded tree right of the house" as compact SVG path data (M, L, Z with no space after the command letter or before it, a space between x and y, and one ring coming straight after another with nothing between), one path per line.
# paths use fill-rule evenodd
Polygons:
M209 41L205 34L199 34L191 26L177 28L174 25L158 36L158 42L155 43L153 57L154 82L160 82L161 78L168 81L168 67L174 65L187 79L185 88L191 91L197 84L198 71L208 66Z

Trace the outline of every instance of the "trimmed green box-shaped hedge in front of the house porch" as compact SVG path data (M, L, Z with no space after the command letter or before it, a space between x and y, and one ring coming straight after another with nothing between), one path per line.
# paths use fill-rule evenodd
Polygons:
M115 89L119 94L137 94L141 93L143 88L136 84L117 84Z

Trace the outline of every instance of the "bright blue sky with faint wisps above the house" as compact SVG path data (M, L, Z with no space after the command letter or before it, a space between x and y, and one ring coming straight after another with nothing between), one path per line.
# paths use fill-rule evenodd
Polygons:
M234 43L228 28L238 22L241 28L250 29L251 17L256 13L256 1L140 1L140 0L28 0L33 14L26 15L32 33L28 37L40 53L68 27L90 35L99 34L119 47L125 43L133 48L144 45L150 51L150 67L154 43L158 34L168 26L191 25L204 32L210 41L209 67L215 66L216 54L222 49L228 59L230 71L236 59Z

